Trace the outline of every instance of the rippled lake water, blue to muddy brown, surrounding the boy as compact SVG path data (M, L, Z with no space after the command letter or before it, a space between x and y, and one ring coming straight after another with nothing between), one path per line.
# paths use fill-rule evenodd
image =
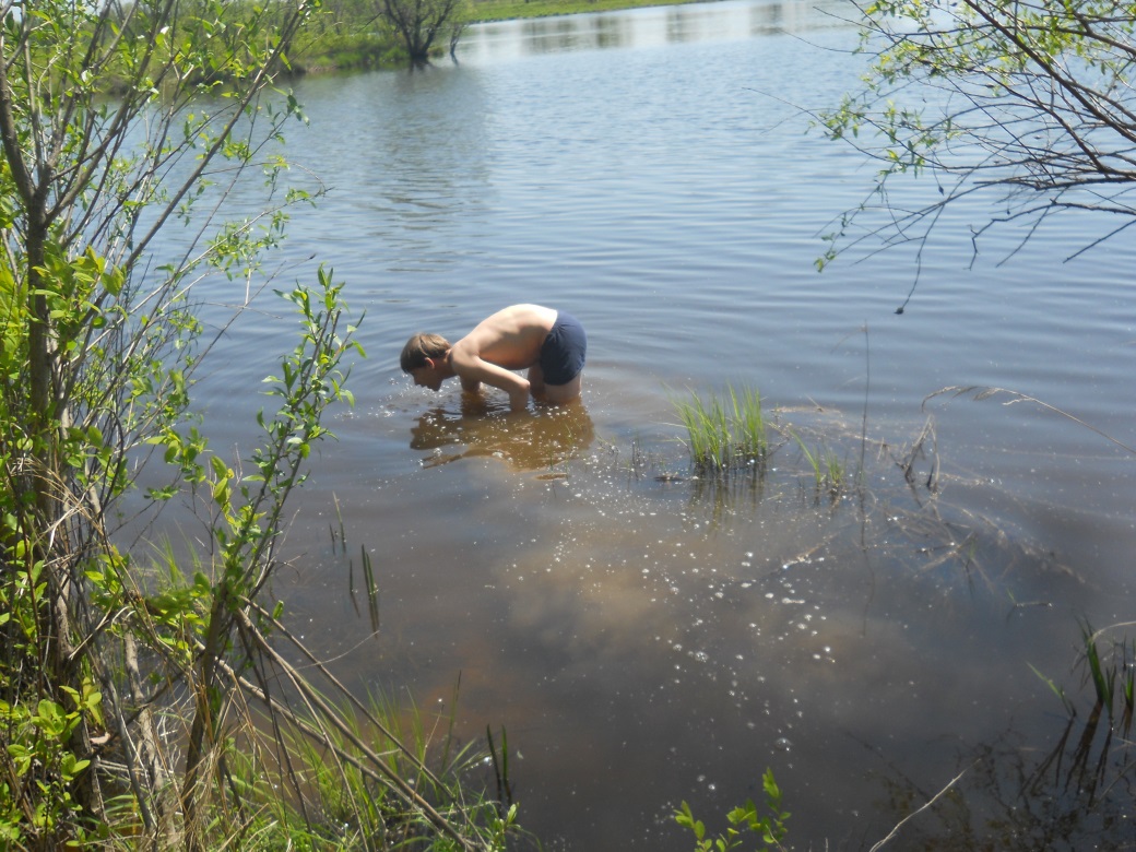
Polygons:
M276 592L360 688L444 710L460 675L460 729L507 729L520 819L546 849L687 850L678 802L720 828L766 767L797 849L870 847L963 770L889 849L1131 841L1131 778L1109 786L1121 741L1099 783L1076 775L1106 747L1076 665L1081 619L1133 616L1136 458L1100 433L1136 445L1136 251L1067 262L1114 225L1081 217L1004 264L1020 233L974 258L954 214L902 315L910 253L818 274L820 235L872 172L807 132L855 84L852 12L758 0L486 24L458 64L296 85L310 125L289 150L329 192L296 214L282 281L332 267L369 358ZM587 327L580 406L507 419L492 393L470 406L400 374L410 333L453 339L520 301ZM259 381L292 345L291 320L258 307L201 383L220 446L247 446ZM788 437L760 482L690 478L673 401L730 384L862 465L862 491L818 500ZM969 385L1045 406L924 406ZM909 484L896 461L928 419ZM349 594L360 549L377 637ZM1068 741L1034 669L1079 709Z

